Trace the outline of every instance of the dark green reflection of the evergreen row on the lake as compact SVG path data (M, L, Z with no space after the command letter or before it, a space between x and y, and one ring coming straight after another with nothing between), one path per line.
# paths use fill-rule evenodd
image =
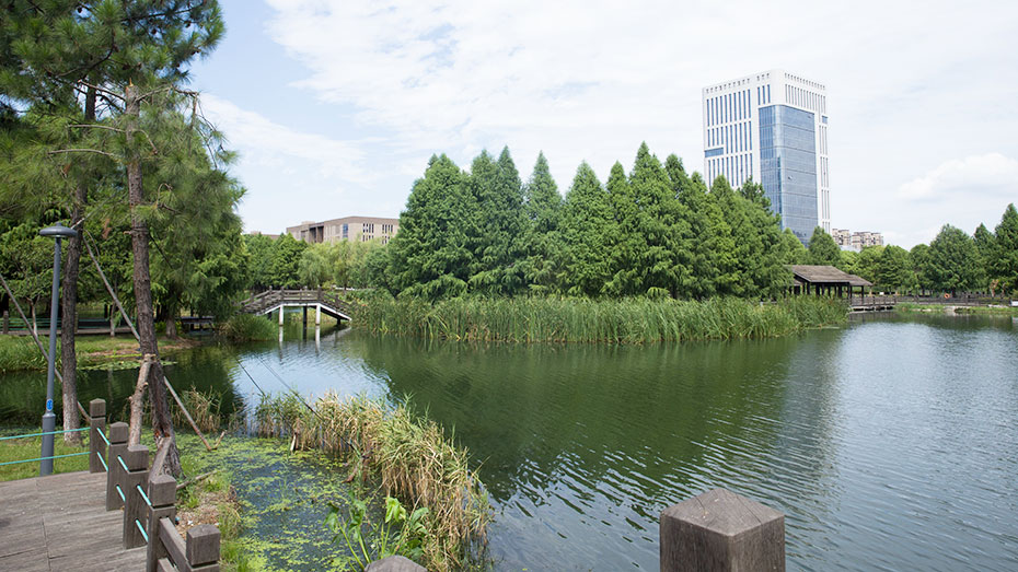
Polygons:
M770 446L794 340L488 346L367 338L365 360L482 462L496 500L559 480L626 481L651 502L697 489L705 452ZM747 432L753 434L748 436ZM634 482L635 481L635 482ZM528 492L533 491L533 492Z

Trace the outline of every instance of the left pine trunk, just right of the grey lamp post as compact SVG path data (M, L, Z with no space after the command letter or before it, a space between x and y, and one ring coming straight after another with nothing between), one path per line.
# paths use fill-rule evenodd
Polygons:
M89 87L85 95L85 122L95 120L95 87ZM81 260L81 234L84 232L82 217L84 206L89 200L89 188L85 175L78 175L78 185L74 188L73 207L71 208L71 227L78 227L78 234L67 241L67 265L63 271L63 292L61 305L63 311L63 327L60 328L60 369L63 374L63 430L73 431L81 427L81 419L77 413L68 411L78 410L78 355L74 353L74 335L78 334L78 273ZM70 326L70 327L68 327ZM81 433L63 433L67 444L80 444Z

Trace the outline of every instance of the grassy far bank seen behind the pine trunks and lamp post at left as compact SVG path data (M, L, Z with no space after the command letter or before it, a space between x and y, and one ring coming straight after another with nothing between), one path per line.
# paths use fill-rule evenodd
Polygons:
M49 340L46 336L41 336L39 341L46 351L49 351ZM159 339L159 350L163 355L171 354L186 348L192 348L198 342L188 339L170 340ZM138 341L134 337L118 336L80 336L74 340L74 353L78 355L78 367L88 369L109 363L129 364L137 367L141 359L141 351L138 348ZM59 365L60 340L57 340L57 363ZM43 353L32 341L31 336L0 336L0 373L23 371L23 370L46 370L46 360Z

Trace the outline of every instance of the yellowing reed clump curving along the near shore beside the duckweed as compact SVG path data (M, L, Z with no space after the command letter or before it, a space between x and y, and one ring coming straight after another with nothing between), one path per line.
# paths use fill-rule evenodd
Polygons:
M467 452L406 406L327 394L309 407L281 395L263 398L255 422L263 436L288 436L293 448L336 454L348 462L350 478L378 478L386 494L428 507L421 562L428 570L462 568L471 547L484 540L491 506Z

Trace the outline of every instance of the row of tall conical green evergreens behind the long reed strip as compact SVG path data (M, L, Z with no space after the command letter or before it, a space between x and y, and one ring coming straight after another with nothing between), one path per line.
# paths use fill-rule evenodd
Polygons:
M763 188L722 178L708 188L675 155L647 144L602 184L582 163L565 197L539 155L524 184L508 149L468 172L432 156L400 217L368 258L368 277L395 295L765 297L790 281L805 250L782 232ZM380 271L384 269L384 271Z

